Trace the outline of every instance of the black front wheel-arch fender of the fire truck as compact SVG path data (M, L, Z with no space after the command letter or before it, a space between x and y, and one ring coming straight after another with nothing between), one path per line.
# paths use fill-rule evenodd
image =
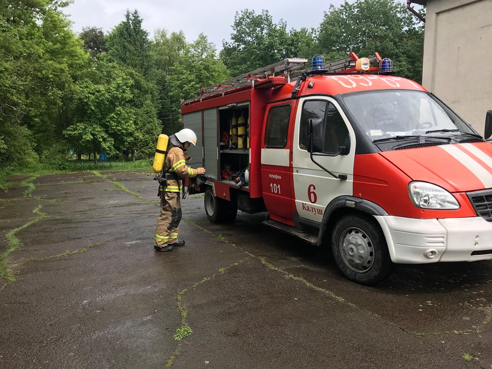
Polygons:
M330 222L333 219L333 213L339 209L356 209L360 212L371 215L388 215L388 213L383 208L372 201L346 195L336 197L332 201L330 201L323 213L323 220L321 221L318 239L316 240L317 246L321 245L321 241L326 230L330 228Z

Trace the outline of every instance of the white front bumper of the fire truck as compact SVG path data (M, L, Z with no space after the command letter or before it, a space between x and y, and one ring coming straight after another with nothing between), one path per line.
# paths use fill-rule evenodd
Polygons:
M481 217L413 219L375 216L395 263L492 259L492 223Z

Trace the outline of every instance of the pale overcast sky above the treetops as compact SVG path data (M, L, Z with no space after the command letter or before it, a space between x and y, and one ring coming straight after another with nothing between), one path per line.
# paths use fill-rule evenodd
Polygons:
M130 12L137 9L143 19L142 28L149 32L150 38L159 28L169 32L182 30L188 42L193 42L203 32L220 50L222 40L230 40L234 16L241 10L254 10L256 14L268 10L275 24L283 19L287 30L299 30L302 27L317 28L330 4L338 7L342 3L342 0L310 0L308 3L299 0L249 0L244 3L231 0L74 0L64 13L69 15L72 29L77 33L83 27L98 27L109 32L125 19L127 9Z

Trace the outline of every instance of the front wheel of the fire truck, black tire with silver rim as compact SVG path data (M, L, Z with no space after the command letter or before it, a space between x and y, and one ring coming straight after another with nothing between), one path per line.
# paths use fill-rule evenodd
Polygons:
M340 218L333 229L331 245L338 268L354 282L374 285L389 277L393 270L384 234L370 216Z

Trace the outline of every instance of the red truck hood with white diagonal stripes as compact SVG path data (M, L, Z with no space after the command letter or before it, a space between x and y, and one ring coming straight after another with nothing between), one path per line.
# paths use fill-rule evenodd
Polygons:
M412 180L434 183L449 192L492 188L492 145L440 145L380 153Z

